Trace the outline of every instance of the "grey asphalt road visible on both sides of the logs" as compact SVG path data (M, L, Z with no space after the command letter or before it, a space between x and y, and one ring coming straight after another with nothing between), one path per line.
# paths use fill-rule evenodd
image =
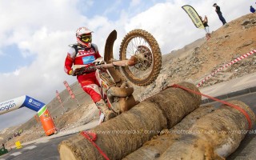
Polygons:
M256 114L256 92L251 94L244 94L235 98L225 99L232 100L236 99L242 102L245 102L246 105L250 106L254 113ZM219 102L211 102L206 105L220 106ZM254 134L247 134L246 138L242 141L241 145L238 149L230 155L227 160L240 160L240 159L255 159L256 158L256 126L254 126L253 130ZM20 150L12 150L10 153L5 154L0 157L0 160L9 160L9 159L17 159L17 160L26 160L26 159L47 159L47 160L55 160L59 159L58 154L58 144L62 142L64 139L69 138L72 135L66 135L60 138L54 138L51 140L47 140L46 142L34 143L28 146L24 146L24 148Z

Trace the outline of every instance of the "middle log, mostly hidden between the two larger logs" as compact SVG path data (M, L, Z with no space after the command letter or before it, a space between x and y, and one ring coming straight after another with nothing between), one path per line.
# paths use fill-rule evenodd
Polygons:
M166 149L174 142L178 141L182 135L187 134L187 130L193 126L202 116L209 114L215 110L214 106L201 106L188 114L182 119L177 125L172 127L170 130L162 130L160 136L152 138L150 141L143 144L138 150L127 155L123 160L134 160L134 159L147 159L156 160L158 159Z

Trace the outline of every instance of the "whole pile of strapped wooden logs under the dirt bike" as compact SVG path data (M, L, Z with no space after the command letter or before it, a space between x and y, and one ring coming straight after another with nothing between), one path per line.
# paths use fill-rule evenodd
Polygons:
M178 85L199 92L188 82ZM244 138L239 130L248 130L248 118L230 106L215 110L200 103L200 95L170 87L86 133L97 134L94 143L110 159L226 158ZM254 124L249 106L231 103L245 110ZM105 159L82 134L61 142L58 150L61 159Z

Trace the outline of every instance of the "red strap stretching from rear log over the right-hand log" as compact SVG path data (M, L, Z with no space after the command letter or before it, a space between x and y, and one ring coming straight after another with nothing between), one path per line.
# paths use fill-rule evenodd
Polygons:
M246 110L243 110L243 109L240 108L239 106L235 106L234 104L232 104L232 103L230 103L230 102L222 101L222 100L220 100L220 99L218 99L218 98L210 97L209 95L206 95L206 94L201 94L201 93L199 93L199 92L196 92L196 91L194 91L194 90L190 90L190 89L188 89L188 88L186 88L186 87L179 86L179 85L177 85L177 84L174 84L174 85L172 85L172 86L167 86L167 88L169 88L169 87L178 87L178 88L181 88L182 90L187 90L187 91L189 91L189 92L191 92L191 93L193 93L193 94L202 95L202 96L204 96L204 97L206 97L206 98L213 99L214 101L221 102L221 103L223 103L223 104L225 104L225 105L227 105L227 106L232 106L234 109L239 110L239 111L246 117L247 122L248 122L248 126L249 126L249 130L250 130L251 127L252 127L250 115L247 114ZM166 89L166 88L165 88L165 89ZM165 90L165 89L164 89L164 90Z

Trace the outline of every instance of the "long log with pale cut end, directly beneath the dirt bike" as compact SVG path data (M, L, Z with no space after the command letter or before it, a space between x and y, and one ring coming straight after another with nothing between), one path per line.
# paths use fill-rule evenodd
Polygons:
M191 83L182 82L190 90L198 91ZM198 108L201 96L180 88L168 88L147 98L131 110L96 126L97 146L110 159L122 159L137 150L143 143L166 128L171 128L187 114ZM61 159L104 159L97 148L81 134L61 142L58 146Z

